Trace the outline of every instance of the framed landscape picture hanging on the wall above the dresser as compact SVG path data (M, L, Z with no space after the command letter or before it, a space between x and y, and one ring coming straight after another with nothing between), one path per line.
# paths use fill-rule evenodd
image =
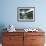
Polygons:
M35 21L35 7L18 7L17 20L21 22Z

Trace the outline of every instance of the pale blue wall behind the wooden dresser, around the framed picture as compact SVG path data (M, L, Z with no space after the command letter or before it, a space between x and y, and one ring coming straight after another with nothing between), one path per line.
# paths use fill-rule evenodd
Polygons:
M46 0L0 0L0 25L16 28L46 28ZM35 7L35 22L18 22L17 7ZM0 26L0 27L1 27Z

